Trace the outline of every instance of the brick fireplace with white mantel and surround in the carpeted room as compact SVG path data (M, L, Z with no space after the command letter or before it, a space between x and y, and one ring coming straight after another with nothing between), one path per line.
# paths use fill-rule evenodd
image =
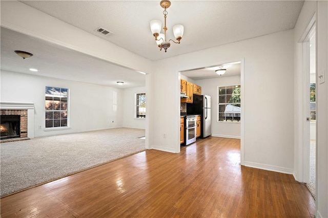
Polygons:
M0 102L0 116L1 142L34 138L34 103Z

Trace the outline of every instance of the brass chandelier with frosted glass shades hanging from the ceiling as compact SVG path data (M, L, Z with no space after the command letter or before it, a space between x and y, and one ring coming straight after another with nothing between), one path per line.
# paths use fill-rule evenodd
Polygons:
M170 48L171 44L170 41L173 41L176 44L180 43L180 40L183 35L183 26L178 24L173 27L173 33L177 41L174 41L173 39L170 39L167 41L166 39L166 31L168 28L166 27L166 17L168 15L167 8L171 6L171 2L169 0L162 0L160 1L160 6L164 9L163 14L164 14L164 33L160 33L160 30L162 28L162 23L158 19L154 19L150 21L150 29L153 33L153 36L155 37L157 46L159 47L159 50L161 51L162 49L167 52L167 49Z

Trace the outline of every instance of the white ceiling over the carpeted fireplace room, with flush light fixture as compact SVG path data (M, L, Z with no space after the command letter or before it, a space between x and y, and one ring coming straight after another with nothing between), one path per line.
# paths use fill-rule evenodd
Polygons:
M15 50L27 51L33 56L23 59ZM32 72L30 68L38 72ZM116 88L146 85L144 74L3 27L1 69ZM125 83L119 86L117 81Z

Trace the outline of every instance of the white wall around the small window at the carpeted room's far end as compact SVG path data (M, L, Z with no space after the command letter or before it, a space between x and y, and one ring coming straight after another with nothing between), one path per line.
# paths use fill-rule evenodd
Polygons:
M134 118L134 104L135 104L135 94L146 93L146 87L137 87L131 89L124 89L123 94L123 126L128 128L146 128L146 119L136 119ZM147 95L146 95L147 98ZM146 100L147 104L147 100ZM147 112L146 112L147 113Z

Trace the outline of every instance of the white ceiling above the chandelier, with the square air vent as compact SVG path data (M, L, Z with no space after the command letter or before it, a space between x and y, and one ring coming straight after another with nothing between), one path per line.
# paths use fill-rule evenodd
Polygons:
M22 1L91 34L150 60L172 57L283 30L293 29L302 1L172 1L167 9L172 27L185 26L180 45L159 52L150 21L163 23L160 1ZM99 26L115 34L94 32ZM89 42L92 43L92 42Z

